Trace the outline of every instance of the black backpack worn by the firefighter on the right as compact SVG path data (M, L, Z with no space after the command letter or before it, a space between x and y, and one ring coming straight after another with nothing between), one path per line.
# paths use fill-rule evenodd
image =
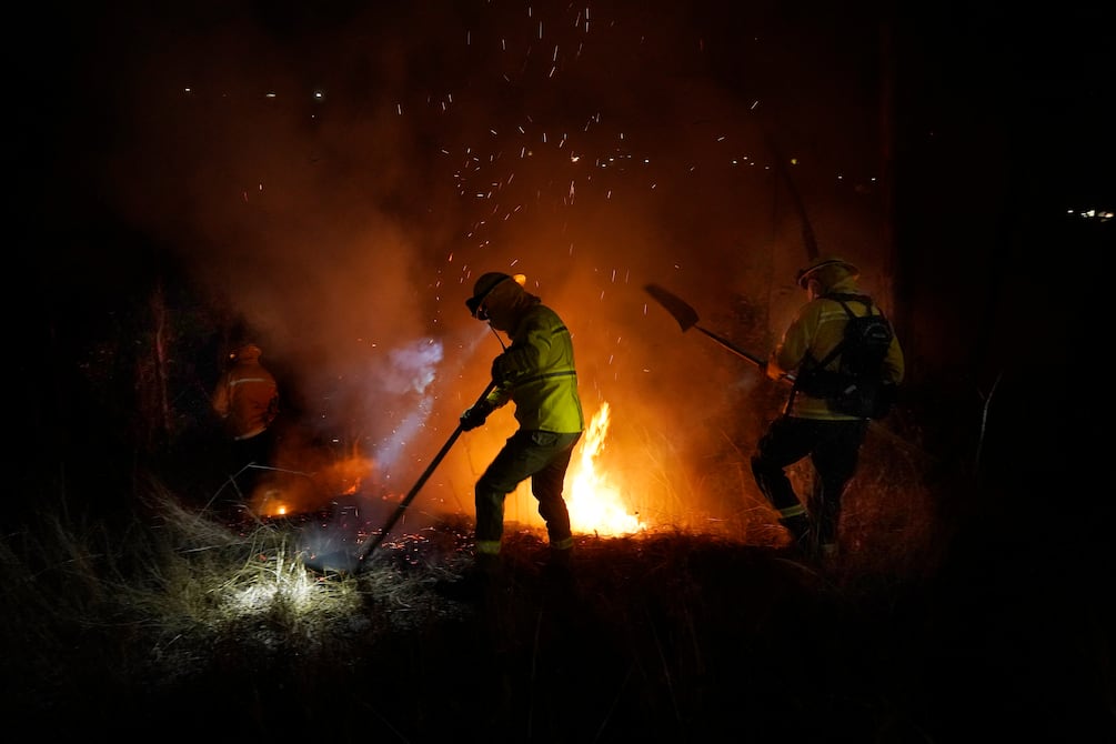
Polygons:
M840 413L883 418L895 402L895 386L883 378L884 359L894 337L892 325L869 297L836 293L825 297L839 302L848 315L845 336L825 359L800 371L795 388L826 398ZM846 303L850 300L864 303L868 311L855 315ZM837 355L840 355L838 369L825 369Z

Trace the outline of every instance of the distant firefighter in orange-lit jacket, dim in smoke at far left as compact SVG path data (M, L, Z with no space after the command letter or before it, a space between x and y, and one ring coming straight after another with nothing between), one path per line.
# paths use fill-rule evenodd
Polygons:
M229 368L213 390L213 410L231 439L230 476L251 495L275 450L272 424L279 415L279 386L260 364L263 350L246 344L229 355Z

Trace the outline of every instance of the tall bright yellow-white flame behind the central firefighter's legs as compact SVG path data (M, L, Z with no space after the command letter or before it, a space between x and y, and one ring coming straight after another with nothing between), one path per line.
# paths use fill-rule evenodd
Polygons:
M578 445L580 456L575 453L576 458L570 463L566 502L574 532L620 535L646 529L637 516L627 512L619 489L596 468L596 457L604 450L608 433L608 412L606 402L585 429Z

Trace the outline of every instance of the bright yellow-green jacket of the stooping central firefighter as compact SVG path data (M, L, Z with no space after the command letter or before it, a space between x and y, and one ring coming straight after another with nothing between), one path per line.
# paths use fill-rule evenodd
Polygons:
M545 305L532 305L509 337L511 345L500 355L508 381L489 394L489 403L500 407L512 400L521 429L557 434L584 431L574 342L558 313Z

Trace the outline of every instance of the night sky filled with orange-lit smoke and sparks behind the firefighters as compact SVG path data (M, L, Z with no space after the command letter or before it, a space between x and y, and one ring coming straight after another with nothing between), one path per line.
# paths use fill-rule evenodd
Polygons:
M766 354L801 300L800 199L819 250L860 264L895 318L920 395L971 436L998 379L1004 396L1066 379L1112 244L1110 222L1069 214L1116 209L1112 13L881 4L30 11L6 68L9 317L36 349L11 371L49 400L20 402L33 431L97 428L75 418L112 405L71 405L41 363L96 378L141 342L122 334L152 277L173 277L246 318L309 419L405 485L499 351L463 306L499 270L575 329L587 413L612 405L629 447L670 429L700 471L711 426L764 383L642 287ZM1048 311L1021 325L1020 303ZM210 381L212 358L175 364ZM1007 398L1004 429L1055 432L1004 435L1008 462L1069 456L1079 392L1057 388ZM764 413L739 414L745 446ZM441 487L466 492L504 435L478 433Z

